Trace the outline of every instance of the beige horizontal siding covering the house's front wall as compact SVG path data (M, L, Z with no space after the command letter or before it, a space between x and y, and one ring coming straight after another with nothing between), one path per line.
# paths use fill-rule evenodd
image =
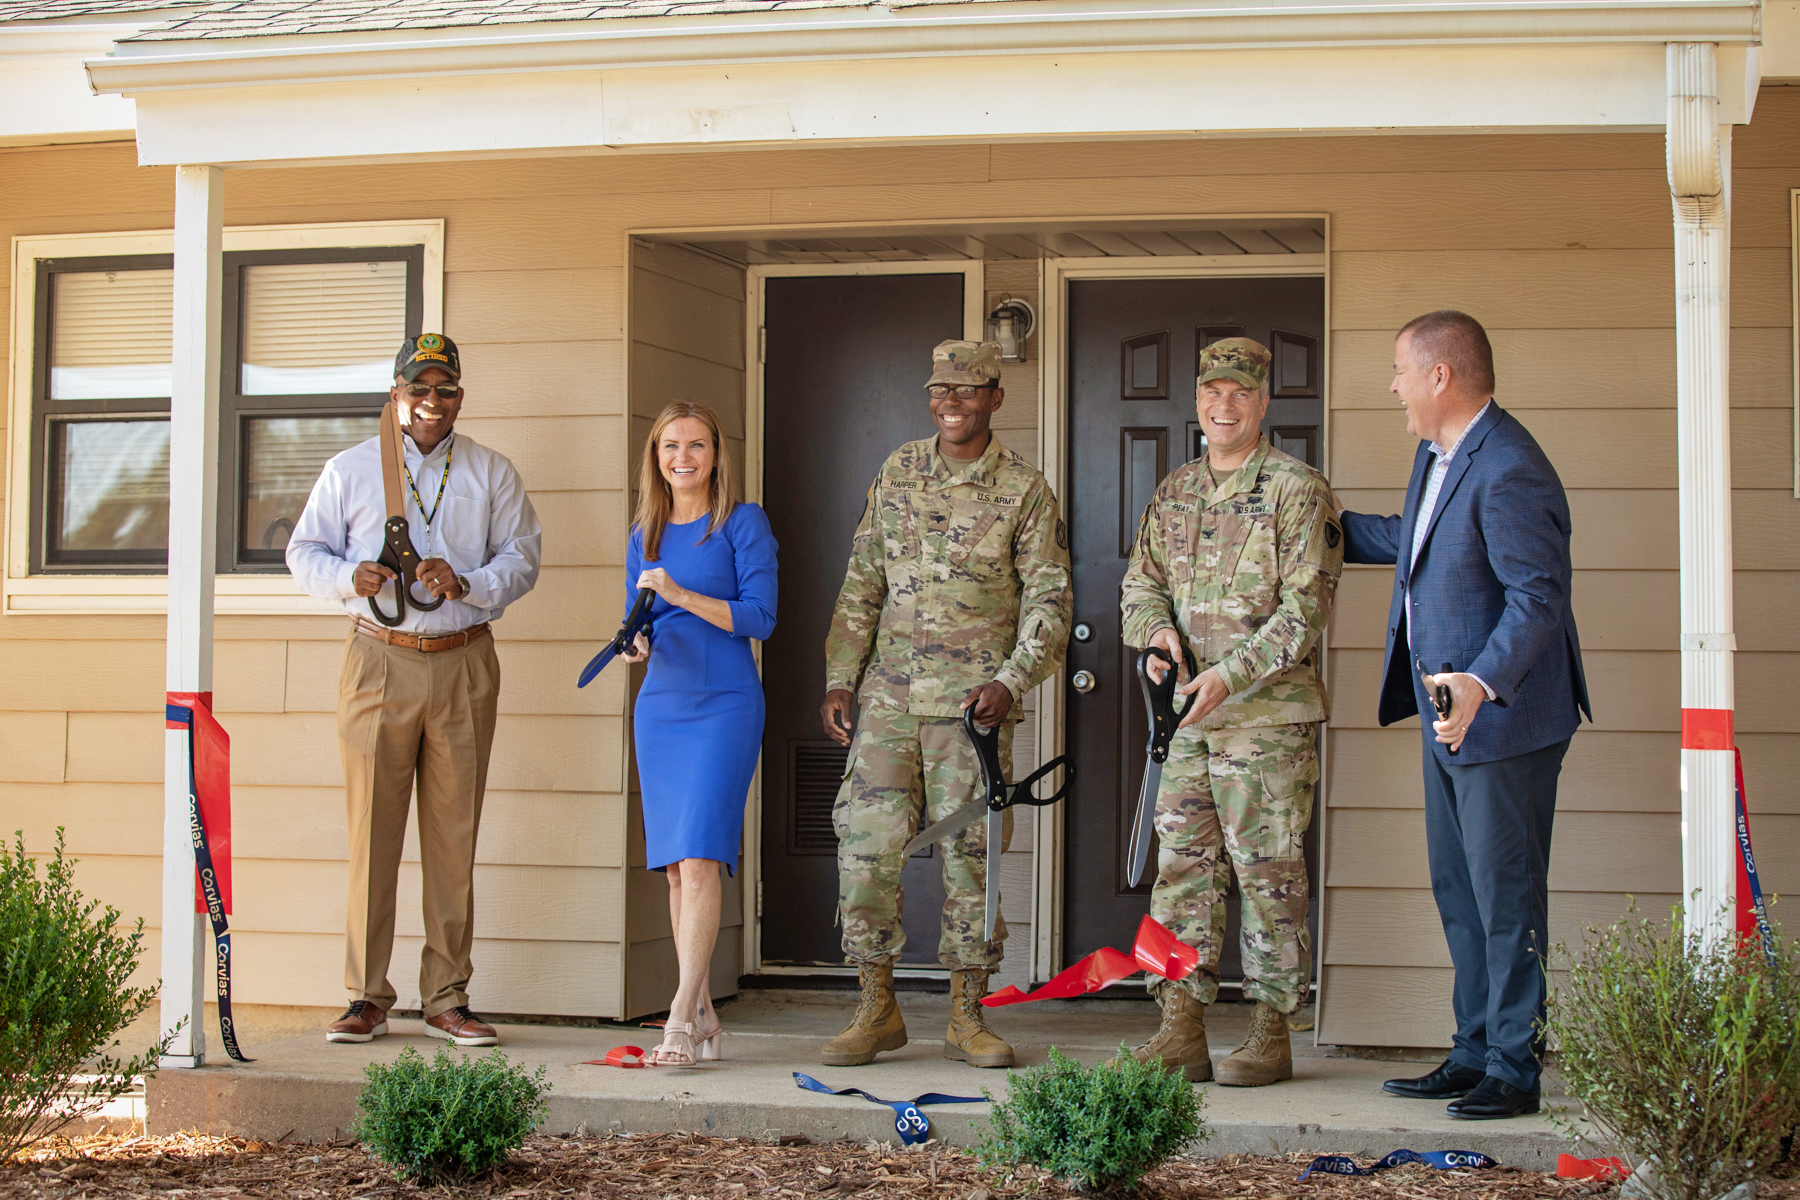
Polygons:
M621 615L628 475L668 398L659 392L742 399L743 290L711 259L634 250L634 228L1330 214L1328 464L1343 498L1399 509L1413 444L1386 394L1391 335L1445 304L1490 324L1499 401L1570 488L1598 723L1575 738L1562 777L1553 934L1575 937L1629 894L1645 909L1669 903L1679 891L1679 669L1661 139L1238 139L1224 171L1217 149L770 149L229 173L234 225L446 219L446 331L468 367L466 428L513 457L544 518L544 578L499 628L506 682L477 880L479 1009L623 1016L661 1007L670 986L662 882L628 865L641 864L641 837L625 673L585 691L574 675ZM173 173L131 160L128 144L0 151L0 234L167 228ZM1787 207L1800 185L1800 92L1762 92L1733 167L1737 725L1764 878L1791 892L1800 716L1780 684L1800 669ZM990 299L1035 300L1035 264L988 264ZM1008 369L997 421L1028 457L1035 380L1035 363ZM1350 570L1332 630L1319 1038L1442 1045L1449 968L1424 874L1418 734L1373 721L1390 587L1386 570ZM23 828L43 849L67 826L90 891L149 925L162 633L160 617L0 619L11 684L0 698L0 828ZM344 826L331 707L342 621L227 617L218 637L236 750L241 999L338 1004ZM1028 892L1028 826L1003 864L1017 894ZM403 921L416 923L412 905L403 889ZM416 934L401 927L401 991L414 986ZM1015 937L1010 966L1026 945ZM734 955L738 939L720 946ZM729 959L715 966L715 979L731 970ZM155 970L151 957L146 977Z

